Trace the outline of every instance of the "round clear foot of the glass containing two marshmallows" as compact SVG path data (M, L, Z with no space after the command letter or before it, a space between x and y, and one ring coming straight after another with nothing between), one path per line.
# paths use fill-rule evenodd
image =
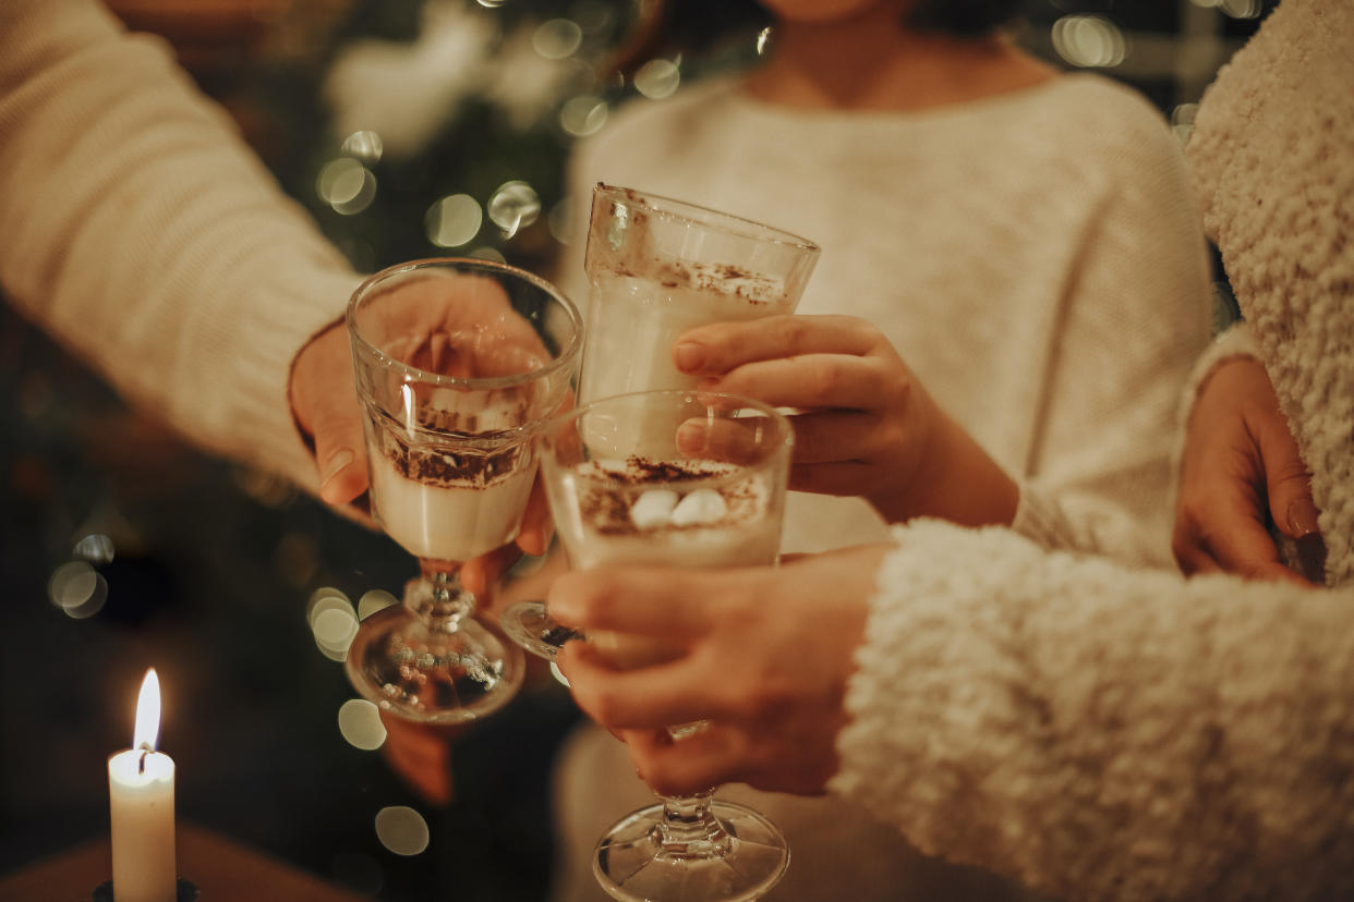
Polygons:
M734 802L711 803L714 834L665 844L663 806L617 821L597 844L593 874L615 899L735 902L758 899L789 867L789 847L774 824Z

